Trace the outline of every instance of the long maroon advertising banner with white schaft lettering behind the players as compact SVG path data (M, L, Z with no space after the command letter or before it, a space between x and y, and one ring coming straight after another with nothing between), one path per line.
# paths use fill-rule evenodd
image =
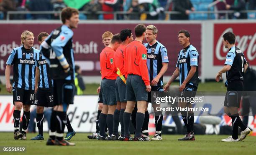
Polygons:
M132 31L137 24L79 24L74 30L73 47L75 63L81 66L82 75L100 75L100 52L104 48L102 34L110 31L113 34L129 28ZM40 32L48 32L59 27L60 24L0 24L3 32L0 37L0 75L5 74L5 63L13 48L20 46L20 35L23 30L33 32L34 36ZM181 29L191 33L191 43L201 51L201 24L155 24L159 32L157 40L165 45L168 51L169 65L165 75L172 75L177 63L178 52L182 46L178 42L178 32ZM135 36L135 34L133 34ZM145 41L144 41L145 42ZM39 49L37 38L34 47Z

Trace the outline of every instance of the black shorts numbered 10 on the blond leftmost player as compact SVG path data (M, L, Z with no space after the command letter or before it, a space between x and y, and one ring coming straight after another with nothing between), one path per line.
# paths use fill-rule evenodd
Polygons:
M25 90L13 87L13 105L14 102L22 102L23 105L33 105L35 90Z

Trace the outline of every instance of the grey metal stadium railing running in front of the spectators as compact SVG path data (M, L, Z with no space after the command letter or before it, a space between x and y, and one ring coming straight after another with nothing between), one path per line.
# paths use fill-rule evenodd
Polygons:
M20 14L31 14L31 15L36 15L36 14L59 14L59 11L8 11L6 20L10 20L10 15L20 15ZM91 12L88 11L80 11L79 13L85 14L85 15L90 15ZM149 14L149 12L143 12L146 14ZM181 14L180 12L177 11L164 11L166 15L171 15L171 14ZM210 20L210 15L211 14L219 14L219 13L225 13L226 19L228 19L228 14L230 13L236 13L234 10L208 10L208 11L194 11L191 12L190 14L207 14L207 19ZM256 10L241 10L240 13L256 13ZM138 13L128 13L125 11L115 11L115 12L103 12L103 11L97 11L94 14L101 15L101 14L113 14L113 20L118 19L118 15L138 15Z

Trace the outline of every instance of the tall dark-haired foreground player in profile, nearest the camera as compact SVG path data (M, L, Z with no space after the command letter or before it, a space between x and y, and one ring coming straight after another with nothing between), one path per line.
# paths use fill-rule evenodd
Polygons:
M63 139L67 110L74 100L73 28L77 28L79 12L66 7L61 11L63 25L51 32L41 44L41 52L50 60L50 75L54 80L54 110L51 114L50 138L46 145L75 145ZM55 128L56 127L56 128ZM55 132L56 131L56 132ZM56 137L55 137L56 136Z

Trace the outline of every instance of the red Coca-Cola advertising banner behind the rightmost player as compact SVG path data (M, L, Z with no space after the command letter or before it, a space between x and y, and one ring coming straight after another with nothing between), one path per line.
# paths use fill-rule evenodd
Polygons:
M213 65L224 65L228 49L223 46L223 35L233 32L236 46L243 51L250 65L256 65L256 23L214 24Z

